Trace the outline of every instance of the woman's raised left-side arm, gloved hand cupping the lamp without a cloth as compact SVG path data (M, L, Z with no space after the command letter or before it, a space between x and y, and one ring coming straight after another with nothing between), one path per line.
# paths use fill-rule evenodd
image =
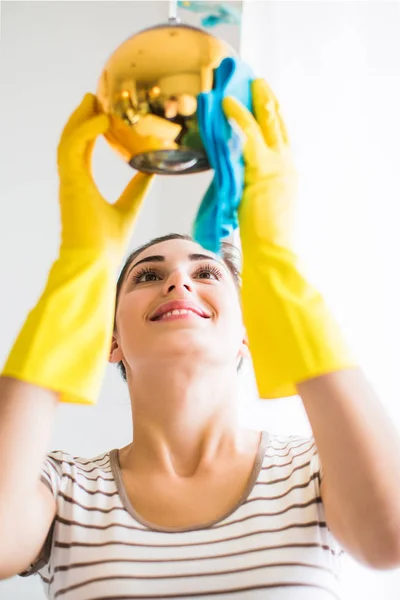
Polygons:
M58 148L59 257L0 380L0 578L36 557L55 514L40 482L58 400L96 402L111 345L117 269L151 177L136 175L115 204L99 193L90 159L109 126L88 94Z

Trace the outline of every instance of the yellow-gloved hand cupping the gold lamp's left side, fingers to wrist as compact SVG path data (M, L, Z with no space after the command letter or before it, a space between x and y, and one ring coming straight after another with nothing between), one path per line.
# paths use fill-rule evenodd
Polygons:
M96 97L86 94L61 135L61 246L107 252L119 263L153 176L135 175L115 204L102 197L92 177L91 157L96 138L108 128L109 117L99 114Z

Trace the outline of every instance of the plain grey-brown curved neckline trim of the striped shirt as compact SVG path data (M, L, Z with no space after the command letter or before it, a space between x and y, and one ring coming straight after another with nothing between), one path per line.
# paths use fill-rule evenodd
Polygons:
M199 529L209 529L210 527L213 527L214 525L216 525L216 524L220 523L221 521L224 521L225 519L230 517L248 499L248 497L251 494L251 492L254 488L254 485L258 479L258 476L259 476L259 473L260 473L260 470L262 467L262 463L264 460L265 452L266 452L266 449L268 446L268 440L269 440L268 432L261 431L260 432L260 442L258 445L257 454L256 454L256 457L254 460L254 464L253 464L253 468L250 473L249 480L247 482L247 485L246 485L246 488L245 488L243 494L241 495L239 500L236 502L236 504L232 508L230 508L228 511L226 511L222 516L218 517L217 519L208 521L207 523L203 523L200 525L194 525L192 527L163 527L161 525L156 525L155 523L151 523L150 521L147 521L146 519L141 517L136 512L134 507L132 506L132 504L129 500L128 494L126 493L124 482L122 480L121 466L119 463L119 455L118 455L117 448L114 448L113 450L110 451L110 467L111 467L111 472L114 476L115 484L117 486L118 494L120 496L120 499L121 499L121 502L122 502L124 508L141 525L144 525L145 527L147 527L148 529L151 529L153 531L160 531L160 532L164 532L164 533L184 533L184 532L188 532L188 531L196 531Z

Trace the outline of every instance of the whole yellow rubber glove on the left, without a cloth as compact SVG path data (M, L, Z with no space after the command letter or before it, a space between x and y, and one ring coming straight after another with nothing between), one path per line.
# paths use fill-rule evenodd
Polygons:
M45 290L30 312L3 375L59 392L61 401L98 398L114 323L116 276L152 179L142 173L115 204L98 191L91 155L109 127L87 94L58 147L61 246Z

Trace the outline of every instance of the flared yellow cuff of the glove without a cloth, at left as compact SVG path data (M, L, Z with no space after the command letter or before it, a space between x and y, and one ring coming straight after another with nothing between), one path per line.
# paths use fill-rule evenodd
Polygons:
M2 374L59 392L64 402L95 403L114 306L114 265L92 252L63 250Z

